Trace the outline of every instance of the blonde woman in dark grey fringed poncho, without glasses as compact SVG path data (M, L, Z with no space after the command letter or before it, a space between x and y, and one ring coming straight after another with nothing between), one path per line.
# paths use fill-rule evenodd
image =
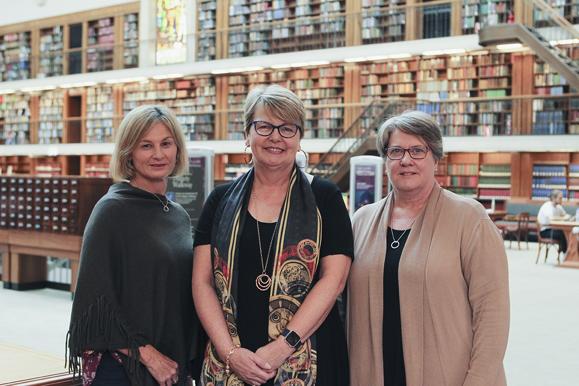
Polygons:
M80 252L68 348L84 386L183 385L190 375L193 239L188 214L165 195L188 167L170 108L127 114L111 158L120 182L94 207Z

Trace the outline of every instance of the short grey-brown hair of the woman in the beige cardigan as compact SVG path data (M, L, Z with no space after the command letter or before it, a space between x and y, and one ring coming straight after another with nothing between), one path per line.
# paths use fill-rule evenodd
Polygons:
M384 119L378 128L376 147L378 147L378 154L384 161L387 158L386 148L389 145L390 135L397 129L406 134L422 138L432 151L437 162L444 158L442 134L438 122L426 112L409 109L402 112L402 114Z

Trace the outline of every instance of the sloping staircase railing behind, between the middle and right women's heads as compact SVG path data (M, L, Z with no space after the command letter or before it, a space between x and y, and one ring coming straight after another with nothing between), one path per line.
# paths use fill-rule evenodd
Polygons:
M331 179L332 174L336 173L340 166L348 162L348 159L364 144L365 140L376 137L376 130L385 118L415 105L415 103L411 104L404 101L372 101L371 104L364 107L356 121L320 158L317 165L310 169L310 173L317 174L325 179ZM340 156L338 157L337 154L340 154Z

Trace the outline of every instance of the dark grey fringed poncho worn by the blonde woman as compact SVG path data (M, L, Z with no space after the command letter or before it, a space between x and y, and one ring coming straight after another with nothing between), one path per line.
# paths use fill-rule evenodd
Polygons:
M83 236L68 332L69 370L86 349L151 344L190 373L199 325L191 295L190 219L177 203L129 183L112 185L94 207ZM133 386L155 386L138 362L122 356Z

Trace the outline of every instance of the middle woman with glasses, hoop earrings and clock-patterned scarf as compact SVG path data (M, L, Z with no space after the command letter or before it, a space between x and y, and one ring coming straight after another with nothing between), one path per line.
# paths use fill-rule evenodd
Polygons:
M296 165L305 108L294 93L258 86L244 113L254 166L214 189L193 243L193 299L210 338L201 384L347 386L336 298L353 236L342 194Z

